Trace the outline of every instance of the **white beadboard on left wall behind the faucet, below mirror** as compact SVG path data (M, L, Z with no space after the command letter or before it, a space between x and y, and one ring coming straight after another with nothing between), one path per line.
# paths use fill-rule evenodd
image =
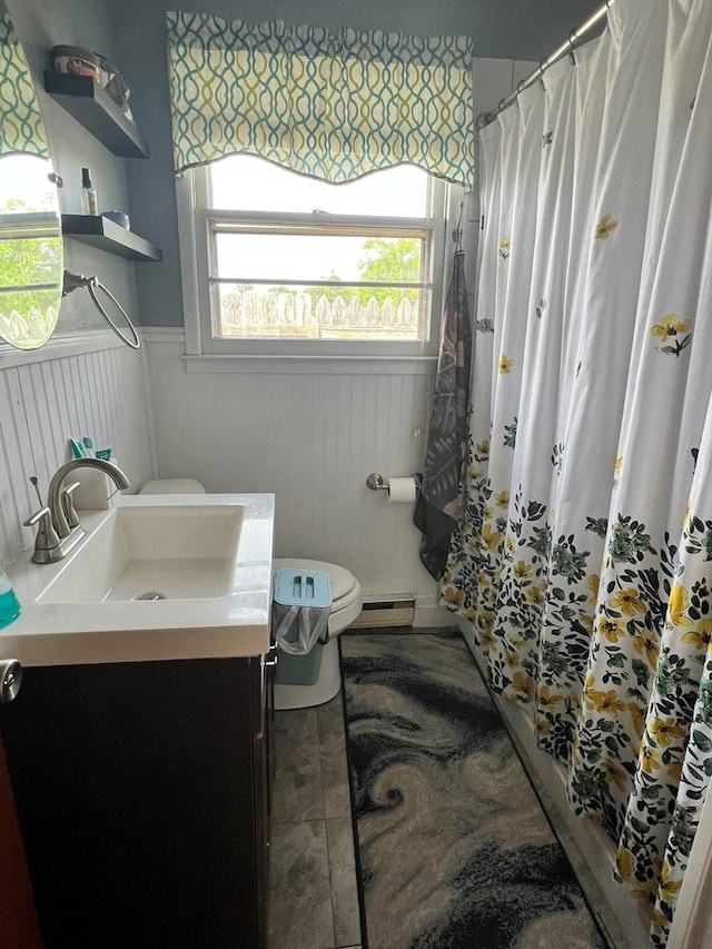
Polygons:
M0 369L0 561L32 546L33 530L22 526L38 507L29 478L37 475L46 496L70 457L69 436L112 446L131 485L152 476L144 355L109 343Z

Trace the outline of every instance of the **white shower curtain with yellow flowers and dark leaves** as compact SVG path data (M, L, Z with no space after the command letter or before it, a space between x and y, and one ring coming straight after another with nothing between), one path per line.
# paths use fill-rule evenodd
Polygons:
M443 584L663 946L712 773L712 4L619 0L481 135Z

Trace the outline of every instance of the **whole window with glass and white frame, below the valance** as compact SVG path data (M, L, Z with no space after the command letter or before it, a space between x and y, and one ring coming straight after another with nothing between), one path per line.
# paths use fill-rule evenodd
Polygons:
M333 185L248 155L178 181L189 353L436 355L453 186L406 165Z

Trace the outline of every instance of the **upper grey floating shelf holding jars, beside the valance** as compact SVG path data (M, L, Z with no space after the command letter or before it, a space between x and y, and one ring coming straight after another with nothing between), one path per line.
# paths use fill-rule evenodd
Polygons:
M113 155L148 158L148 142L106 89L90 76L47 70L44 89Z

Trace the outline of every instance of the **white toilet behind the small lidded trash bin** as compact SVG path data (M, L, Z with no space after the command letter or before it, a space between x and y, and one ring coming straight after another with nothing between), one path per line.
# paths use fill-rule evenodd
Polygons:
M205 494L205 487L194 478L159 478L147 482L140 494ZM349 626L362 611L360 583L343 566L324 561L301 557L273 561L273 575L279 570L316 570L329 575L332 583L332 610L329 612L329 637L322 652L322 665L314 685L275 684L275 709L307 709L322 705L338 694L342 673L338 661L339 633Z

